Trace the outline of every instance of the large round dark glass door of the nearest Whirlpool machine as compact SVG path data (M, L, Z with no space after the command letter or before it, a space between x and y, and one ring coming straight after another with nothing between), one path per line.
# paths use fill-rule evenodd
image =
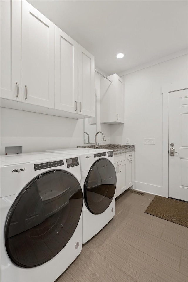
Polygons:
M5 246L21 267L49 261L68 243L82 212L83 194L69 172L53 170L33 179L14 201L5 225Z

